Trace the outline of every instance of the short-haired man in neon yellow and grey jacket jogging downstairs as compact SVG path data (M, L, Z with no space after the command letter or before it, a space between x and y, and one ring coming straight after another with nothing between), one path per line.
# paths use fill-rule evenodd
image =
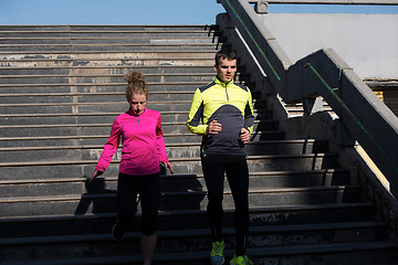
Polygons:
M247 256L249 231L249 170L244 144L253 130L252 96L248 87L233 82L237 54L221 50L216 54L213 82L199 87L193 95L187 127L202 135L200 149L202 170L208 189L207 214L212 233L210 263L224 263L221 233L224 174L235 205L235 254L230 264L252 264Z

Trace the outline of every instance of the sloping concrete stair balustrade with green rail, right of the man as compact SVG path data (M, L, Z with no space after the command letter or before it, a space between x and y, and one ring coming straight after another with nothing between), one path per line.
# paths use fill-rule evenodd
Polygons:
M286 103L317 96L363 146L398 191L398 117L332 49L292 64L248 0L218 0L251 49L270 83Z

